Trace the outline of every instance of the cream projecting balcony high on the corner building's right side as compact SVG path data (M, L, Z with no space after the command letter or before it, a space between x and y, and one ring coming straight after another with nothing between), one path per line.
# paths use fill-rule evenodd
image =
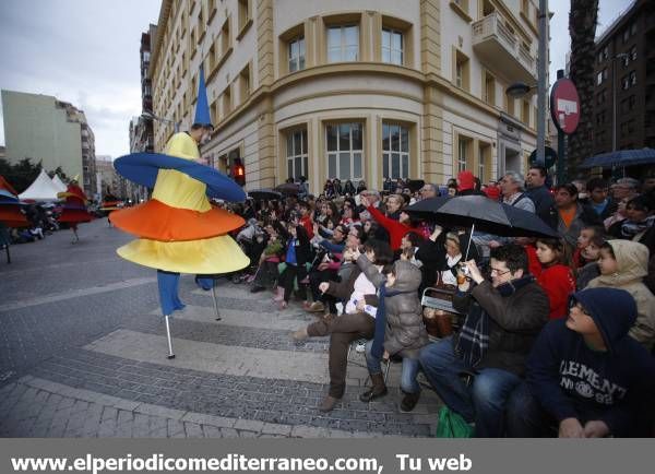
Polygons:
M535 58L498 12L473 23L473 48L490 70L505 79L536 81Z

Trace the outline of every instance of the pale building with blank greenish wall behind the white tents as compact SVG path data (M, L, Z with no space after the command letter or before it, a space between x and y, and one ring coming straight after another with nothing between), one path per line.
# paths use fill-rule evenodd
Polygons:
M2 91L7 159L29 158L46 170L61 166L80 175L90 199L96 197L95 135L83 110L49 95Z

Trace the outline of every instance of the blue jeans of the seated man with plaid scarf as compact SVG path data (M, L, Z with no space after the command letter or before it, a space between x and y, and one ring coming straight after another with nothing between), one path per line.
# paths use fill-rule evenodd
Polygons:
M419 360L443 403L466 422L475 422L476 437L504 435L505 404L521 383L519 376L496 368L478 369L472 386L467 387L461 374L474 371L474 368L455 355L452 336L425 346Z

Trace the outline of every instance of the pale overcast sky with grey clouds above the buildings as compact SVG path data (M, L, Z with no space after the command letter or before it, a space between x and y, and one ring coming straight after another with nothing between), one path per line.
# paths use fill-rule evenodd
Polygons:
M631 0L599 3L603 32ZM159 5L160 0L0 0L0 88L70 102L86 114L97 155L129 153L130 118L141 114L141 33L157 22ZM570 46L569 5L570 0L548 5L555 13L551 81Z

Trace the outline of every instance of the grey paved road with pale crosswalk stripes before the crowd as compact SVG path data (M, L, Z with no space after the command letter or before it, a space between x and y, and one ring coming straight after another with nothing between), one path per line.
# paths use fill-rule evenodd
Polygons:
M295 344L313 317L269 293L218 283L223 320L193 279L172 320L177 357L166 358L155 272L116 256L130 236L105 220L12 247L0 259L2 437L369 437L429 436L440 402L429 390L412 414L390 394L357 399L367 378L352 356L348 388L330 414L327 339Z

